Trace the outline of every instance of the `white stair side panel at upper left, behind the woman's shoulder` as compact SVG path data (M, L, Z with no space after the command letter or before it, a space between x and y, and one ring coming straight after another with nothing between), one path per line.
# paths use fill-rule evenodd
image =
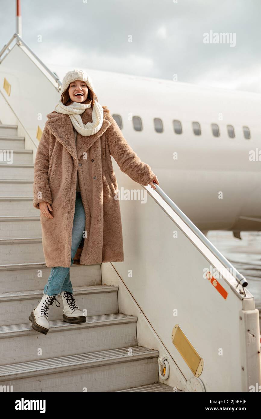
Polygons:
M14 72L13 69L17 67L17 63L19 63L19 71ZM3 89L4 78L11 85L10 96ZM28 88L32 84L35 88ZM3 106L1 122L18 125L18 136L25 136L25 148L34 150L34 161L39 143L36 138L37 128L39 126L43 131L47 120L46 115L54 110L60 98L58 90L43 69L35 64L31 54L29 55L25 48L15 44L12 52L3 59L0 65L0 92L3 95L1 103L6 101L10 108ZM13 112L12 116L11 112Z

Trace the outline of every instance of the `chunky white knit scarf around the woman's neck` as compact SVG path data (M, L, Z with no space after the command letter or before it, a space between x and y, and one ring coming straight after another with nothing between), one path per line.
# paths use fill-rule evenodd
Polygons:
M96 134L103 124L103 107L97 101L94 102L92 112L92 122L83 124L80 114L83 114L86 108L90 108L90 103L73 102L71 105L65 106L61 100L55 107L55 111L60 114L67 114L70 116L72 125L76 131L84 137Z

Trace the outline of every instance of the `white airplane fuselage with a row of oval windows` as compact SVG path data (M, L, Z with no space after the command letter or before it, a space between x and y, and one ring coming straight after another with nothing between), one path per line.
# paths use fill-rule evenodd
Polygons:
M200 230L261 230L260 94L87 71L126 140Z

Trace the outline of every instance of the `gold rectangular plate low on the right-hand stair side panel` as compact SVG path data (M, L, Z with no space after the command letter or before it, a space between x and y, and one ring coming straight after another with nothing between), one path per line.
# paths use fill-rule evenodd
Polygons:
M178 324L173 327L172 342L195 377L199 377L203 370L203 359Z

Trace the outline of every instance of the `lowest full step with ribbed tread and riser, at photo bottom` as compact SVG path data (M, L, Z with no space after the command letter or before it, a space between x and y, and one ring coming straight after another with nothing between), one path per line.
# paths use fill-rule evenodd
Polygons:
M134 346L10 364L0 367L0 383L16 392L116 391L157 383L158 356Z

